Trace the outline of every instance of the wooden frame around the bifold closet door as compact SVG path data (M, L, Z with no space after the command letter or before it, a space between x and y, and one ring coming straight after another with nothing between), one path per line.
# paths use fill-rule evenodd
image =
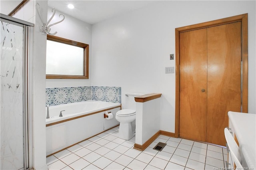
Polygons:
M180 133L180 32L208 28L232 22L241 22L242 31L242 112L248 113L248 14L241 14L219 20L184 26L175 29L176 50L176 97L175 97L175 137ZM228 113L227 113L228 114Z

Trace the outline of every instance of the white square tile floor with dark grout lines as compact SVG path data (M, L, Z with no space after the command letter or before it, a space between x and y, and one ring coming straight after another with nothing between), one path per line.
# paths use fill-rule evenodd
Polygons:
M143 152L133 149L135 137L118 138L112 128L46 158L49 170L217 170L227 160L226 148L181 138L158 136ZM153 150L166 143L161 152Z

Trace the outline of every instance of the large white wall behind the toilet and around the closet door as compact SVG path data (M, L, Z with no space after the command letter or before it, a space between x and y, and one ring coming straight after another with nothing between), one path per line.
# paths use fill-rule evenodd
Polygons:
M175 130L175 28L248 13L248 109L255 113L255 1L161 1L92 27L92 85L162 93L160 130Z

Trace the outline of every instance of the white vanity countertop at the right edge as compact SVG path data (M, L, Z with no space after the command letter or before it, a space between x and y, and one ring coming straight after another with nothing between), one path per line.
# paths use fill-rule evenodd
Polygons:
M228 112L248 168L256 169L256 114Z

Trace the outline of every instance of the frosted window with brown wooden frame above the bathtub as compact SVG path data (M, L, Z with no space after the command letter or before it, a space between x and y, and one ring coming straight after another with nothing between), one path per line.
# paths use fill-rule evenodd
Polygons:
M46 79L88 79L89 45L47 35Z

